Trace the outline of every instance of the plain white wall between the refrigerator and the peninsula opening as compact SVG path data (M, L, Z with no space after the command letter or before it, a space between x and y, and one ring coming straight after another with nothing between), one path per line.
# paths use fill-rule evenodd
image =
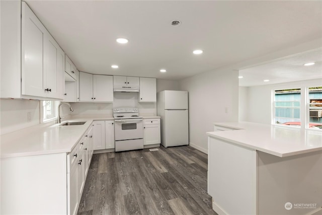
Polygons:
M217 69L179 84L189 92L190 145L207 153L206 132L213 131L213 123L238 121L238 71Z

